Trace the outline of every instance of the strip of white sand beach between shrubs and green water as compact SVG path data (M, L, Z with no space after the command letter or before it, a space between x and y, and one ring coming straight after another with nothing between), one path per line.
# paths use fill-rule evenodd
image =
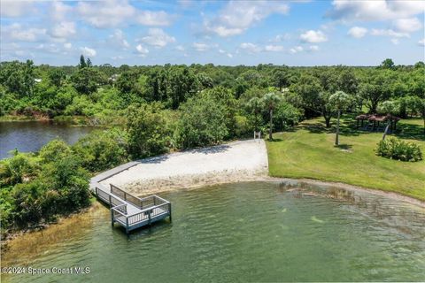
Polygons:
M144 195L180 187L260 180L267 172L265 142L249 140L143 159L101 184L109 187L112 183Z

